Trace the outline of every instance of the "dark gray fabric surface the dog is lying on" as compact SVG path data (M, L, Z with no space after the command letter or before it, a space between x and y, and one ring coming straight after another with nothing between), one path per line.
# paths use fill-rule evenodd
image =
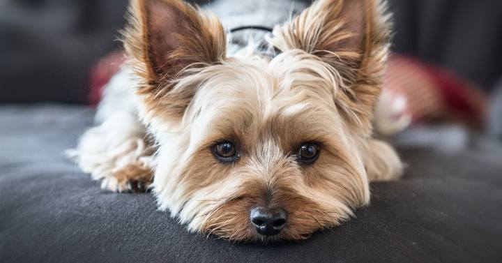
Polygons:
M100 190L63 156L92 114L0 107L0 262L502 262L494 143L440 151L404 137L406 175L373 184L372 205L356 218L307 241L259 246L189 234L148 193Z

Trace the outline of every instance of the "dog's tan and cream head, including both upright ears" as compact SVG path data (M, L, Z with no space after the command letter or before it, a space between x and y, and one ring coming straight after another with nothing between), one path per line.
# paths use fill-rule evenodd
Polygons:
M387 52L378 1L324 0L229 58L215 17L135 1L126 50L158 142L154 193L190 230L303 239L369 202L364 165Z

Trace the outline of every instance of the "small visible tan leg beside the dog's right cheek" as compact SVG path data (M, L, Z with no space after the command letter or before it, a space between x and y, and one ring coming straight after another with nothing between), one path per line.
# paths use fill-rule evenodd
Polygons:
M368 143L365 167L370 181L390 181L398 179L403 173L403 164L395 149L379 140Z

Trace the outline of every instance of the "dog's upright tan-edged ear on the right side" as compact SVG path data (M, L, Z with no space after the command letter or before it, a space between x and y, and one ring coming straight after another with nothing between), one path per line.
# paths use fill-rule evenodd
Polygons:
M391 23L383 0L318 0L282 27L271 43L304 50L340 73L335 101L348 119L371 128L374 105L386 66Z

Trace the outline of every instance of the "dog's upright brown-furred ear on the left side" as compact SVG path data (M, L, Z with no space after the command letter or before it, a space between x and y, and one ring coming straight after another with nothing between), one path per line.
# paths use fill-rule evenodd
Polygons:
M169 93L187 69L225 57L226 36L218 18L181 0L132 0L128 20L123 31L126 53L144 81L139 92L152 98ZM178 110L183 110L185 103L179 103Z

